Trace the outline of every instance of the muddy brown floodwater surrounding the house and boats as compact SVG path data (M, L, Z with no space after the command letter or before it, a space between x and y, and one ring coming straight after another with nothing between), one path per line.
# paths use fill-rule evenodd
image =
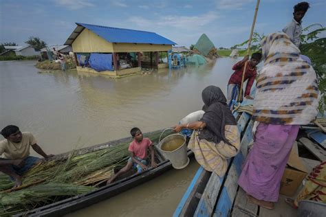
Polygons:
M47 154L93 146L169 128L202 109L202 90L226 84L237 60L219 58L200 67L160 69L112 79L89 73L39 73L33 61L0 62L0 128L34 134ZM34 151L32 155L37 156ZM171 170L143 185L71 216L171 216L198 168Z

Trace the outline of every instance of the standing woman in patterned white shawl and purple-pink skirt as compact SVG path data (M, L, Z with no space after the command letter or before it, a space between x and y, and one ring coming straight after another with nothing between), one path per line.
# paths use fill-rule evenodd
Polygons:
M298 128L317 115L319 91L314 69L286 34L261 43L265 60L252 115L259 125L238 183L252 203L273 209Z

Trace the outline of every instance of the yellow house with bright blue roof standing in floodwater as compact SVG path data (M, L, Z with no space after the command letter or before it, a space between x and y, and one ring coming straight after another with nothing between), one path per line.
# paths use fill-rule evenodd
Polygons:
M76 23L65 45L71 45L77 71L109 76L135 73L141 67L169 67L162 61L175 45L154 32Z

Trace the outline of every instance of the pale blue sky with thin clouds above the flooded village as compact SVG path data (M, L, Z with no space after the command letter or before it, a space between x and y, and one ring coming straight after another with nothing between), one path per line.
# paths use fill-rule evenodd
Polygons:
M255 31L281 31L298 2L261 0ZM326 26L326 0L309 3L303 27ZM156 32L186 46L205 33L215 47L230 47L249 37L255 5L256 0L0 0L0 43L23 45L37 36L60 45L78 22Z

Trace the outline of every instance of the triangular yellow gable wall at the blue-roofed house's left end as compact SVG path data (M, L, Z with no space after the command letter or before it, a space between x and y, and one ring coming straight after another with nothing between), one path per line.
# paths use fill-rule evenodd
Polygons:
M105 41L104 38L94 32L84 29L72 43L72 50L80 53L111 53L113 52L113 46L112 43Z

